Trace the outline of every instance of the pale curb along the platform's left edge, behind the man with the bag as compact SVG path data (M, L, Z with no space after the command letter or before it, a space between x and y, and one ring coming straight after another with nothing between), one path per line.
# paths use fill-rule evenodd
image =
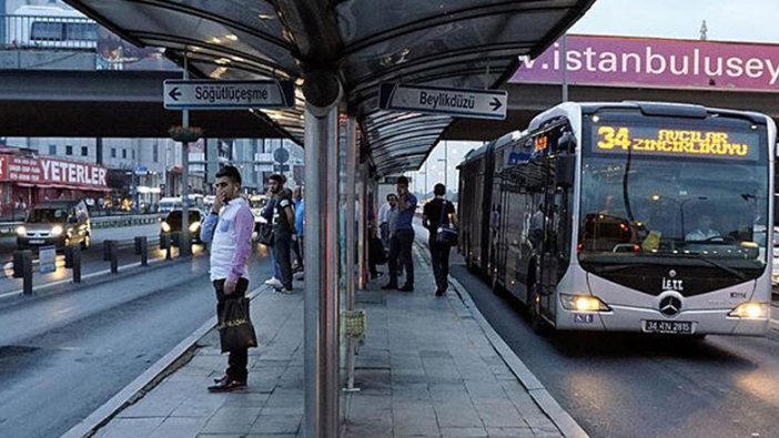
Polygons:
M262 285L250 292L246 297L249 297L249 299L254 299L267 291L271 291L271 286ZM174 373L176 369L179 369L179 367L189 361L188 359L186 361L179 364L178 367L174 367L176 361L179 361L179 359L186 354L191 353L198 340L211 332L215 326L216 316L214 315L203 323L200 328L192 332L192 334L184 340L179 343L179 345L173 347L173 349L168 352L168 354L162 356L156 363L154 363L154 365L143 371L143 374L138 376L128 386L111 397L111 399L95 409L89 417L84 418L81 420L81 422L64 432L60 438L82 438L92 436L92 434L94 434L99 428L105 426L117 414L143 398L145 393L155 387L164 377Z

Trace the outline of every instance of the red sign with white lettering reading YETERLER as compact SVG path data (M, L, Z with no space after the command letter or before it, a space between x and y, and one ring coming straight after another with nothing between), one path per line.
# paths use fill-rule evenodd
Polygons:
M105 167L50 157L0 155L0 181L37 186L102 190L108 187Z

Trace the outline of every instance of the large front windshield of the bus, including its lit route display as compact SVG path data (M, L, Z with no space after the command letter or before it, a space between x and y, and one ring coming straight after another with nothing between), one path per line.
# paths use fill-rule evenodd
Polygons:
M749 277L762 272L770 226L765 128L599 119L584 134L577 249L585 268L684 258Z

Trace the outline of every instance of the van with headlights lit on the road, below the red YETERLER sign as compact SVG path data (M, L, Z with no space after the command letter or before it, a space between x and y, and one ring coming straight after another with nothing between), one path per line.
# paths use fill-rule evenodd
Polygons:
M83 201L47 201L36 205L24 223L17 227L17 247L34 249L54 245L57 249L81 245L88 248L92 237L89 210Z

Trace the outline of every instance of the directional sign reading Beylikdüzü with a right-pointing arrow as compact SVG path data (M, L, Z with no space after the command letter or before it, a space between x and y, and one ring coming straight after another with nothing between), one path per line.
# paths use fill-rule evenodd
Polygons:
M383 83L378 108L469 119L506 119L508 93L504 90L449 89Z

